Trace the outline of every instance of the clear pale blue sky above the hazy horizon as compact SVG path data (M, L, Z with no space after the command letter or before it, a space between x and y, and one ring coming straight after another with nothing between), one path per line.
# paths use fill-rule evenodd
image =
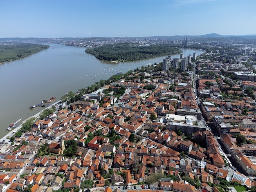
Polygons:
M0 0L0 38L256 34L256 0Z

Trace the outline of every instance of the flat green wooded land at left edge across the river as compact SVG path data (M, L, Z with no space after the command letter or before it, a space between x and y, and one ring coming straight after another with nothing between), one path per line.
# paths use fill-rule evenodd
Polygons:
M34 43L0 43L0 64L25 58L49 47Z

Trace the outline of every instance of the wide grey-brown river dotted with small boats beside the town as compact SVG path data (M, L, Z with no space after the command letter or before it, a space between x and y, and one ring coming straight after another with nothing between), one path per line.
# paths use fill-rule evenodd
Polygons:
M108 79L118 72L134 70L142 65L159 63L165 57L133 62L112 63L96 59L85 53L85 47L49 44L50 48L24 59L0 65L0 138L7 127L40 112L29 106L67 92L91 86L96 81ZM202 54L197 49L182 49L184 56ZM180 58L180 54L171 58ZM18 125L22 122L20 121Z

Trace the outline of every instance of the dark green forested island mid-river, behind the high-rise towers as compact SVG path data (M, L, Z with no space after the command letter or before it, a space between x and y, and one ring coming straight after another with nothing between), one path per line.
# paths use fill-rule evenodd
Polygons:
M180 54L182 50L173 47L173 45L165 44L139 46L132 43L118 43L102 45L101 47L90 47L85 49L85 53L92 54L99 60L121 62Z

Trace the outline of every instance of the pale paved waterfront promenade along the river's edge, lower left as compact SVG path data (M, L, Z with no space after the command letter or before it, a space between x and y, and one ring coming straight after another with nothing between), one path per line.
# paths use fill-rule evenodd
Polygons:
M56 104L59 103L59 102L61 102L61 100L58 100L57 102L53 103L53 104L52 104L51 106L49 106L49 107L44 108L43 110L49 109L49 108L51 108L53 105L56 105ZM31 117L37 118L37 117L40 115L40 113L43 112L43 110L40 111L40 112L38 112L37 114L31 116ZM29 118L31 118L31 117L29 117ZM4 151L9 147L9 145L11 145L11 143L9 143L8 137L11 137L11 136L13 136L16 132L18 132L19 129L22 127L22 124L25 123L29 118L27 118L26 120L22 121L21 125L19 125L18 127L12 129L12 130L11 130L9 133L7 133L4 137L0 138L0 143L2 143L2 141L4 141L4 143L7 143L7 144L1 144L1 145L0 145L0 152L4 152ZM7 141L7 140L8 140L8 141Z

